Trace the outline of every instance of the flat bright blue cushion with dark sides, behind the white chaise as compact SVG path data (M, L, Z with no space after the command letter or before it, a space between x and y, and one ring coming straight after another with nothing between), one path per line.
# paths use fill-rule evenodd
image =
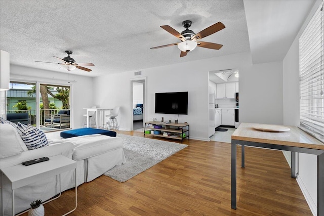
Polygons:
M85 127L85 128L71 129L69 131L62 131L61 137L62 138L71 138L71 137L85 136L85 135L91 135L91 134L101 134L101 135L106 135L109 137L116 137L117 133L114 131L107 131L105 129Z

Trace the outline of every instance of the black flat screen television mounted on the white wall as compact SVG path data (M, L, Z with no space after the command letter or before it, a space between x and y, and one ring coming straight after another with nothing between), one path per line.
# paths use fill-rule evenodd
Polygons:
M188 115L188 92L155 93L155 113Z

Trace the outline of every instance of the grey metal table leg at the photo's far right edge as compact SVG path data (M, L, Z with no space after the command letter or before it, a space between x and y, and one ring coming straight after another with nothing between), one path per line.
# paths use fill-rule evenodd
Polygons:
M317 155L317 215L324 215L324 153Z

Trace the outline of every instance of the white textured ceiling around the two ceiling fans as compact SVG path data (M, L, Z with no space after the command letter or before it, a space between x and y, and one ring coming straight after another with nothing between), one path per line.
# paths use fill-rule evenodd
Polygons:
M52 56L92 62L93 71L73 74L99 76L149 67L250 51L242 1L0 1L0 48L11 63L55 70ZM181 32L191 20L195 33L221 21L226 28L201 39L224 45L222 49L196 48L180 58L180 50L151 47L180 40L160 28L170 25ZM90 68L90 67L89 67Z

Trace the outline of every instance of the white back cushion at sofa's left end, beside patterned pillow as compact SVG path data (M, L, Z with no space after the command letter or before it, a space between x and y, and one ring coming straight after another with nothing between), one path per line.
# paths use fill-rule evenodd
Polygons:
M17 129L11 124L0 124L0 158L28 151Z

